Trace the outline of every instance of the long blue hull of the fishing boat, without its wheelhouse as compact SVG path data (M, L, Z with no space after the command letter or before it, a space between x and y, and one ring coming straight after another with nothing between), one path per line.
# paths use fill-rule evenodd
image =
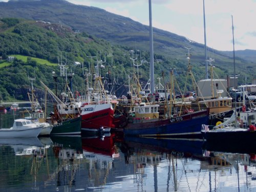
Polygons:
M140 137L202 138L201 124L208 122L209 111L203 110L176 118L144 123L128 123L124 135Z

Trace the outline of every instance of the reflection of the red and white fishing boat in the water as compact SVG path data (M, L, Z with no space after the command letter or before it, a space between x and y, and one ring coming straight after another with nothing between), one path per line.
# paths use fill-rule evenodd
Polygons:
M115 145L115 134L105 134L103 137L83 137L83 157L89 163L88 177L86 177L88 190L106 189L106 184L114 166L114 159L119 158L119 149Z

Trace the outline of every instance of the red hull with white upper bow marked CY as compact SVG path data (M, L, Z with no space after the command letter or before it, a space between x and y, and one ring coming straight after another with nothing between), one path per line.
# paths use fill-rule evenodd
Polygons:
M86 105L82 110L81 116L82 133L97 133L102 128L104 132L110 132L111 127L115 127L113 124L114 110L109 103Z

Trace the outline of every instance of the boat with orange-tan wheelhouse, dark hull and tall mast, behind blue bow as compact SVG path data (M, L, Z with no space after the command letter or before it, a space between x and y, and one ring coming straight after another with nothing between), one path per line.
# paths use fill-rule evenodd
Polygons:
M215 73L214 58L207 56L206 45L206 27L205 27L205 9L203 2L203 17L204 17L204 53L205 53L205 79L197 82L198 90L197 96L201 105L209 108L209 125L216 125L223 122L224 118L228 118L233 113L232 98L226 91L227 80L219 79ZM210 70L208 71L208 67ZM208 73L210 72L210 78Z

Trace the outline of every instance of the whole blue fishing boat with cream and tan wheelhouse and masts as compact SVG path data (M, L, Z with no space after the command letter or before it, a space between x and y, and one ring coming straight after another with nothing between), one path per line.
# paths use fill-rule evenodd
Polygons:
M191 74L190 54L188 54L188 76ZM173 70L170 73L170 93L174 90ZM137 83L138 84L138 83ZM139 84L138 84L139 85ZM138 86L137 90L140 91ZM138 93L138 95L140 95ZM140 97L142 100L142 97ZM133 102L131 102L133 103ZM208 123L209 109L201 109L198 104L196 111L191 109L182 99L176 102L174 98L166 101L165 116L159 115L159 104L151 102L139 102L132 106L127 125L124 126L124 135L139 137L178 137L178 138L202 138L201 122ZM178 109L178 106L180 110Z

